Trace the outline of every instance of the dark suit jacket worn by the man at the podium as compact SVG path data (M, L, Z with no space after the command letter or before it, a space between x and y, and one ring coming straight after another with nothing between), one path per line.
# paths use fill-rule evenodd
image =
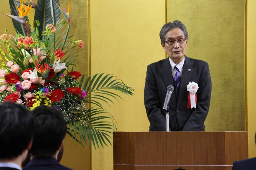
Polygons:
M197 108L187 109L187 84L198 83ZM150 122L149 130L165 131L163 103L166 88L174 86L169 57L148 66L144 90L144 103ZM173 92L169 102L170 126L178 119L182 131L204 131L204 120L209 111L212 81L208 63L185 56L178 92ZM178 95L176 95L178 94Z

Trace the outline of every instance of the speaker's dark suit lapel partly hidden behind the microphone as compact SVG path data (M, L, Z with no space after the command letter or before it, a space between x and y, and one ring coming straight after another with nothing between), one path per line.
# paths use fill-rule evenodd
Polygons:
M169 57L164 60L161 71L162 71L163 80L165 81L165 86L166 86L165 89L167 89L169 85L174 86L174 82L172 78L172 68L169 61ZM173 108L176 108L176 99L174 94L171 95L170 104Z

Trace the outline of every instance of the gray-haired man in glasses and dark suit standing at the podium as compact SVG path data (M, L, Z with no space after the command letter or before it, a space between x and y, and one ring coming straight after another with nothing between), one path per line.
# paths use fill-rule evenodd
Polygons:
M185 56L188 35L180 21L165 24L160 31L160 39L169 57L152 63L147 69L144 102L150 122L149 131L166 129L166 113L162 108L169 85L174 86L169 102L171 131L204 131L212 91L208 63ZM187 85L193 81L199 89L190 99ZM190 101L194 101L195 107L191 108Z

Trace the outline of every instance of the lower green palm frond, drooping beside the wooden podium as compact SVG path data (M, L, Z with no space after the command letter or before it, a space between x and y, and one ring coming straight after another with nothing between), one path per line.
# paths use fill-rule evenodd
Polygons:
M116 131L113 117L101 108L92 108L77 114L74 122L69 122L68 134L82 144L85 141L94 148L111 145L110 139L113 131Z

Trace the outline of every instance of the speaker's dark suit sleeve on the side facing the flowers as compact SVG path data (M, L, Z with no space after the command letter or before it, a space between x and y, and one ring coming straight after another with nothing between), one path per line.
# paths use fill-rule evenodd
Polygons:
M144 104L152 130L165 131L165 116L161 113L157 82L150 66L146 73Z

